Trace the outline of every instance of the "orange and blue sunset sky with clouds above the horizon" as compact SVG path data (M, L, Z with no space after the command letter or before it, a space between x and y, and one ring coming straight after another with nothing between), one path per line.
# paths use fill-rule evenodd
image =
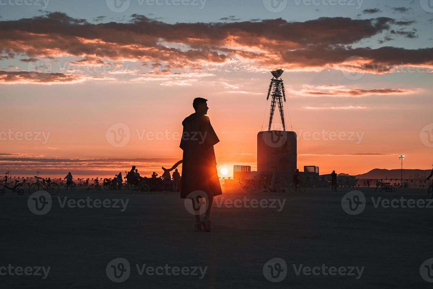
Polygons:
M220 138L219 169L254 170L269 71L278 68L301 171L396 169L399 154L404 168L430 169L433 13L409 2L288 3L280 12L262 1L242 9L210 0L178 10L132 1L123 13L105 1L98 9L87 1L2 8L0 169L108 175L145 158L137 167L152 173L181 159L181 122L200 96ZM275 119L279 130L278 112ZM111 128L129 141L113 146Z

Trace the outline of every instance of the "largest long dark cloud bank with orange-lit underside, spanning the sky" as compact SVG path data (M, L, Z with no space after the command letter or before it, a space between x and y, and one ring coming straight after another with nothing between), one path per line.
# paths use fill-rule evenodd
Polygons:
M392 29L393 25L409 24L388 17L169 24L138 14L133 14L128 23L95 24L54 12L0 21L0 59L17 55L76 57L77 62L135 61L160 63L170 70L192 67L194 71L203 71L204 65L238 61L254 64L255 71L268 71L275 63L292 71L321 71L328 67L339 69L346 58L359 55L382 64L404 61L407 65L430 67L433 48L352 47L383 32L417 37L416 31Z

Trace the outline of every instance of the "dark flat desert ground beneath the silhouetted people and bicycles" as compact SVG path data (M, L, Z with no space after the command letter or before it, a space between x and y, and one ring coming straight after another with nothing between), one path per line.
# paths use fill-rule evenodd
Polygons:
M3 288L430 286L421 276L420 267L433 257L433 208L381 205L383 199L391 203L401 197L414 202L425 200L427 189L397 188L394 193L375 193L372 188L361 188L365 209L349 215L343 210L342 199L352 190L225 192L213 204L210 233L193 231L194 216L187 212L178 193L128 195L62 189L52 196L51 209L36 215L29 208L27 192L17 196L9 191L0 196L0 267L51 268L45 279L42 273L6 274L0 280ZM88 206L87 197L90 204L98 204L95 200L99 199L100 208ZM378 197L381 201L376 208ZM104 207L106 199L110 205L106 201ZM116 199L123 204L127 201L126 208L121 201L116 204L118 208L113 208ZM232 201L236 206L231 205ZM74 206L83 202L83 208ZM129 277L121 283L113 282L106 270L116 258L125 258L130 264ZM287 264L281 267L287 276L278 283L268 281L263 271L265 263L273 258ZM137 265L141 268L144 264L207 269L204 275L194 276L156 275L152 271L140 275ZM323 271L323 266L337 270L345 267L346 273L341 269L341 274L331 275ZM308 268L299 270L305 267L320 269L315 271L318 274ZM351 267L363 267L361 276L356 270L347 274Z

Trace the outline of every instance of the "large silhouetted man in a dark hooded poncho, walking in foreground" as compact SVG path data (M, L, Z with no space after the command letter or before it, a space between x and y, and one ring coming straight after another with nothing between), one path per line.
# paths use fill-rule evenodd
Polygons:
M209 117L206 116L209 107L207 99L197 97L192 106L193 114L182 122L183 132L180 148L183 150L181 199L190 198L191 193L197 193L190 198L195 210L196 224L194 231L211 231L210 210L213 197L222 195L220 180L216 170L216 158L213 146L220 140L216 136ZM189 196L188 196L189 195ZM199 199L206 199L206 212L200 221Z

